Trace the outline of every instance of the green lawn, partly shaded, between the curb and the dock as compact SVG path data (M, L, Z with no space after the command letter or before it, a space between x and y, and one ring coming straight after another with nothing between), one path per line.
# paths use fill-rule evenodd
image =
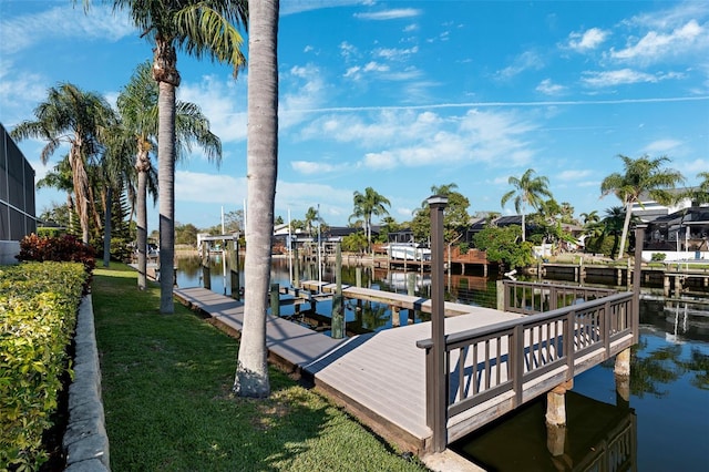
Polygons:
M124 265L92 298L114 471L424 471L327 399L271 369L271 396L230 393L238 342L186 307L161 315Z

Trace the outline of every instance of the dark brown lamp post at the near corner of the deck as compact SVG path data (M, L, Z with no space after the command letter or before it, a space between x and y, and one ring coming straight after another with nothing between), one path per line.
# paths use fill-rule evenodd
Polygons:
M427 415L433 432L433 452L442 452L448 445L448 372L445 372L445 305L443 249L443 211L448 197L433 195L428 199L431 209L431 356L433 369L428 380Z

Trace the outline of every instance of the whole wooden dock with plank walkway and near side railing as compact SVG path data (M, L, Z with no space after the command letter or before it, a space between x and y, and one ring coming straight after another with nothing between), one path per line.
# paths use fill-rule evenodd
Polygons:
M327 291L332 285L319 288ZM356 287L343 293L430 310L430 300L419 297ZM175 295L240 332L242 302L204 288L175 288ZM532 316L449 302L444 309L453 315L445 318L446 443L627 349L637 331L630 294ZM431 322L338 340L267 318L270 361L310 378L376 433L417 455L430 450L433 440L427 417L430 338Z

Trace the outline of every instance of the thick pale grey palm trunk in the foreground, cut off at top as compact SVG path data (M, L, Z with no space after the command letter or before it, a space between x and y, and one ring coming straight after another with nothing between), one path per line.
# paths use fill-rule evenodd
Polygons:
M278 0L249 2L249 73L244 328L234 380L242 397L270 394L266 299L278 170Z

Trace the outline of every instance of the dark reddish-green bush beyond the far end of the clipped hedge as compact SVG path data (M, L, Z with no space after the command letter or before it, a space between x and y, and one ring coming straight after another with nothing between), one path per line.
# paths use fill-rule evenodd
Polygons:
M89 275L84 293L89 289L91 275L96 267L96 252L91 246L83 244L76 236L45 237L35 234L24 236L20 242L19 260L33 260L43 263L52 260L56 263L81 263Z

